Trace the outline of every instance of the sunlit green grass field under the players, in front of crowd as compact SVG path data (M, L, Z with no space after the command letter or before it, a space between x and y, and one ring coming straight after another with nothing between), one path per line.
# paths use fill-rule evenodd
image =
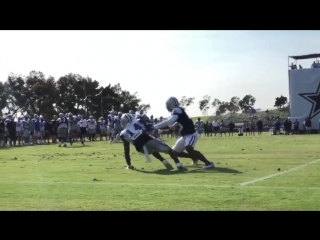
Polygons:
M0 210L320 210L319 138L201 137L217 168L187 172L105 141L1 149Z

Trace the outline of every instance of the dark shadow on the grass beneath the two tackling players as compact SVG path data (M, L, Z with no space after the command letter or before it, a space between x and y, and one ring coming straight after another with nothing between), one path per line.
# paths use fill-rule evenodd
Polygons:
M179 171L179 170L174 170L174 171L169 171L167 169L158 169L153 172L149 171L144 171L140 169L135 169L137 172L141 173L148 173L148 174L159 174L159 175L173 175L173 174L188 174L188 173L229 173L229 174L240 174L242 172L231 169L231 168L223 168L223 167L216 167L214 169L203 169L203 168L188 168L187 171Z

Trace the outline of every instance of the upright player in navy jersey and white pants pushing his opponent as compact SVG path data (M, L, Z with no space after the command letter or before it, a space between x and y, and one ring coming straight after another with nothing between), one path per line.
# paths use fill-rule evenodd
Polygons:
M170 97L166 102L166 107L167 110L171 112L171 117L154 125L154 129L160 129L167 126L172 127L176 123L179 123L182 126L182 130L180 132L181 137L173 146L173 150L177 156L186 157L183 153L183 151L186 150L187 153L192 157L195 164L197 163L197 160L200 160L205 164L203 168L214 168L213 162L209 162L201 152L194 149L195 144L198 141L199 134L195 130L193 121L189 118L184 109L179 107L178 99L175 97Z

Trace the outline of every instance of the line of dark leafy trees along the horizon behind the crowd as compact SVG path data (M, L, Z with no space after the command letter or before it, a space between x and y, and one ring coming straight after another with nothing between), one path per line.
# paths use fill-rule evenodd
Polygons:
M180 106L188 108L194 104L194 97L182 96ZM221 101L205 95L199 101L199 109L207 115L210 108L215 108L215 115L236 113L254 108L256 98L251 94L242 99L234 96L230 101ZM287 98L277 97L275 107L288 105ZM0 82L0 111L7 114L41 113L45 118L51 118L59 112L72 112L83 116L93 115L95 118L105 116L109 111L128 112L143 110L147 112L150 104L142 103L138 93L130 93L122 89L120 83L111 86L101 86L90 77L69 73L55 80L46 77L40 71L32 71L28 76L9 74L7 81Z

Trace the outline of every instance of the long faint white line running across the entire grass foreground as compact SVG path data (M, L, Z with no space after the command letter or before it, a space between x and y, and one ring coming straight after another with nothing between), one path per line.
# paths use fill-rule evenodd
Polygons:
M0 181L0 184L41 184L41 185L54 185L54 184L65 184L65 185L109 185L109 186L127 186L127 187L187 187L187 188L238 188L238 189L282 189L282 190L320 190L320 187L268 187L268 186L259 186L259 187L243 187L239 185L231 186L231 185L203 185L203 184L178 184L178 183L159 183L159 184L152 184L152 183L116 183L116 182L41 182L41 181Z

